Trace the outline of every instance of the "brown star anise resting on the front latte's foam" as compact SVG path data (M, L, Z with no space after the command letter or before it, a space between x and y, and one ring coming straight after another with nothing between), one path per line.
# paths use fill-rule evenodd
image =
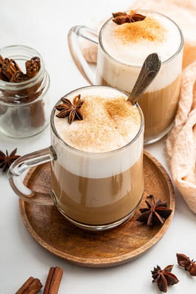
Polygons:
M80 94L73 98L73 103L67 98L61 98L63 104L56 105L56 109L60 112L56 115L57 118L65 118L69 115L69 123L71 124L74 119L83 120L82 114L79 111L84 101L80 100Z

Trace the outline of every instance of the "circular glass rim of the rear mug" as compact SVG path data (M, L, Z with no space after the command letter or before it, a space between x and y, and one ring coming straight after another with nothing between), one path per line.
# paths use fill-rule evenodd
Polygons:
M182 31L180 29L180 27L171 19L169 18L168 16L166 16L165 14L162 14L160 12L157 12L157 11L154 11L154 10L148 10L148 9L136 9L137 12L151 12L151 13L154 13L154 14L158 14L158 15L161 15L165 18L167 18L168 20L170 20L176 27L177 29L179 30L179 33L180 33L180 37L181 37L181 43L180 43L180 46L179 48L177 49L177 51L171 56L169 57L168 59L164 60L163 62L161 62L161 64L165 64L165 63L168 63L170 62L176 55L178 55L178 53L181 51L181 49L183 48L183 45L184 45L184 37L183 37L183 34L182 34ZM125 12L130 12L130 10L126 10ZM118 62L122 65L125 65L125 66L130 66L130 67L134 67L134 68L141 68L141 66L139 65L132 65L132 64L128 64L128 63L125 63L125 62L122 62L122 61L119 61L118 59L116 59L115 57L111 56L104 48L103 46L103 43L102 43L102 32L103 32L103 29L105 28L105 26L113 19L113 17L109 18L100 28L100 31L99 31L99 34L98 34L98 44L100 45L100 48L103 50L103 52L112 60L114 60L115 62Z

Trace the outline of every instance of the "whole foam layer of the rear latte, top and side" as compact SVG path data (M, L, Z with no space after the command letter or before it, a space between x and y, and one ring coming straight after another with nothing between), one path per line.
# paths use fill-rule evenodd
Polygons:
M157 52L160 55L162 64L156 78L145 92L164 89L180 75L183 39L179 28L170 19L158 13L139 13L147 15L147 18L144 21L123 25L109 21L103 26L101 30L102 46L98 46L97 84L109 85L130 92L143 62L152 52ZM157 24L157 29L154 22ZM153 28L150 23L154 24ZM130 28L128 30L130 35L126 31L124 37L123 30L126 26ZM134 30L135 26L141 27ZM142 28L142 26L144 27ZM156 30L158 31L156 32ZM143 37L140 37L140 32ZM144 38L145 34L146 38ZM181 50L178 54L170 61L163 63L172 57L180 47Z

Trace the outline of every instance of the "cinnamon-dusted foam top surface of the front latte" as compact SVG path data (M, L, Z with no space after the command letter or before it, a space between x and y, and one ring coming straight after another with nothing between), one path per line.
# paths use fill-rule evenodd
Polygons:
M72 101L78 94L84 101L80 108L83 120L69 124L67 118L54 118L55 128L67 144L87 152L108 152L137 135L141 116L136 106L126 102L127 95L112 88L90 87L66 98Z

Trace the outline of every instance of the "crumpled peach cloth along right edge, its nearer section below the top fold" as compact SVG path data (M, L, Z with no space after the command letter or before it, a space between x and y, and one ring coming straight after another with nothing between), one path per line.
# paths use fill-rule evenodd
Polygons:
M182 73L178 111L166 151L173 181L196 213L196 62Z

